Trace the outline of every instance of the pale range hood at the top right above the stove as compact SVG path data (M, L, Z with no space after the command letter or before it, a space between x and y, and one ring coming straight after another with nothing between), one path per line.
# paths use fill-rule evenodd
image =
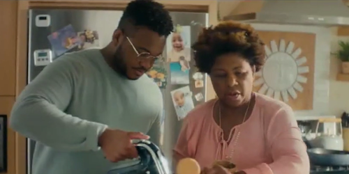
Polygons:
M241 22L342 26L349 25L349 8L344 1L245 0L239 1L234 7L230 6L230 14L221 16L223 20ZM225 1L218 3L221 7L225 6Z

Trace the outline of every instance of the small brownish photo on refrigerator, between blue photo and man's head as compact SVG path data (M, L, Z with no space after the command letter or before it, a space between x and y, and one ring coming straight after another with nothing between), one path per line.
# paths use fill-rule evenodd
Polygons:
M80 38L79 50L100 47L97 31L84 30L77 32L77 36Z

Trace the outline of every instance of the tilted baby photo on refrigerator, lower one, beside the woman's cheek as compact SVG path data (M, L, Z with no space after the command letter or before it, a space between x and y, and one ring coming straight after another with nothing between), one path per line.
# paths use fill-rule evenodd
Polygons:
M183 120L189 111L194 109L194 102L189 86L184 86L171 91L174 110L176 111L178 120Z

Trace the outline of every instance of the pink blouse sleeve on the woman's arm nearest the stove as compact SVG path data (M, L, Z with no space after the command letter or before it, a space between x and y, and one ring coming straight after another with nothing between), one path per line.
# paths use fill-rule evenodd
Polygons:
M309 174L306 145L290 106L276 113L267 129L267 145L274 162L243 170L246 174Z

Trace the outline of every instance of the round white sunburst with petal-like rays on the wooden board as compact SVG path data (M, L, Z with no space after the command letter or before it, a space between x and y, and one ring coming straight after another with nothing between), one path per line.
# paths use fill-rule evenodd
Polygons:
M308 79L302 74L308 73L309 67L302 66L306 63L306 57L299 57L302 49L294 47L293 42L286 46L282 39L279 45L275 40L270 42L270 48L265 45L265 65L255 74L254 86L261 86L258 93L288 102L289 96L297 98L296 91L303 92L302 84Z

